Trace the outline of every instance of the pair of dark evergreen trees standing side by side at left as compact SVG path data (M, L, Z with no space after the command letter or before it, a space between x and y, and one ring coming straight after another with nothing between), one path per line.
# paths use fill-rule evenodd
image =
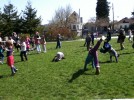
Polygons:
M17 8L9 3L0 9L0 32L2 36L16 33L28 33L32 35L41 23L41 17L37 17L37 10L27 2L25 10L18 13Z

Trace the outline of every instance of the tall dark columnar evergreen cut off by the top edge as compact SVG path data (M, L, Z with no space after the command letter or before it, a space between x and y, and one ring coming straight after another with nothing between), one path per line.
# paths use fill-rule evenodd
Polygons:
M97 0L96 16L97 19L109 17L109 3L107 0Z

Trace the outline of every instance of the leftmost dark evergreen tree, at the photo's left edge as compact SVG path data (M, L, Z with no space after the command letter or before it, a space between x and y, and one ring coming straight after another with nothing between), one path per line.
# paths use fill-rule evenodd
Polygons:
M17 15L18 11L13 6L13 4L9 3L4 6L2 13L2 22L3 22L3 33L4 35L11 35L15 29L16 19L19 18Z

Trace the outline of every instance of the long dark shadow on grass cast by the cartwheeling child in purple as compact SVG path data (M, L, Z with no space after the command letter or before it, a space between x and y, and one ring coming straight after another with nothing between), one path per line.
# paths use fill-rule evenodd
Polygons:
M83 69L79 69L77 72L75 72L73 75L72 75L72 78L68 81L69 83L72 83L75 79L77 79L80 75L95 75L95 74L87 74L87 73L84 73L85 71Z

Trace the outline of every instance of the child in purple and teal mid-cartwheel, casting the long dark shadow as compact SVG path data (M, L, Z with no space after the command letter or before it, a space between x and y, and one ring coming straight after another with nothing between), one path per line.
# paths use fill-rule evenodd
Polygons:
M99 66L99 60L98 60L98 48L103 40L105 40L106 37L102 36L102 38L96 43L96 45L93 48L90 48L87 58L85 60L84 64L84 71L88 70L87 65L92 62L92 66L96 68L95 74L98 75L100 73L100 66Z

